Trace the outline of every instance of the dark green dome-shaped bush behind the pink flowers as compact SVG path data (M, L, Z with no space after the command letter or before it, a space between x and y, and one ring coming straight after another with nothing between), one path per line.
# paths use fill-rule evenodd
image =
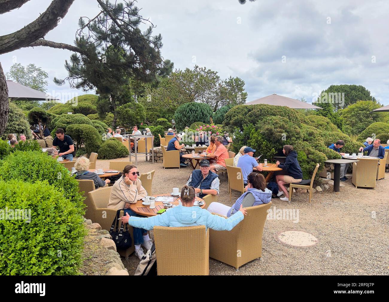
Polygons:
M196 102L182 104L174 113L176 128L181 131L195 121L202 121L205 124L209 124L212 114L212 108L208 104Z

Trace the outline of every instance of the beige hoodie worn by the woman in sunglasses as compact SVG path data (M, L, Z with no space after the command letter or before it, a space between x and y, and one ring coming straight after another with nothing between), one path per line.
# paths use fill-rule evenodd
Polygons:
M123 177L121 177L112 186L107 208L115 210L124 209L126 203L136 203L145 196L147 196L147 191L142 187L140 179L137 179L135 184L128 186L124 182Z

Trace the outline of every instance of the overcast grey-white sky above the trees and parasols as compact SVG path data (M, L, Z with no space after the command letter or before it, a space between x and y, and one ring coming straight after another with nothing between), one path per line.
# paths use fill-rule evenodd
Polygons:
M111 0L112 2L112 0ZM51 0L31 0L0 15L0 35L35 20ZM139 0L144 17L163 37L162 54L177 69L195 64L218 71L221 78L242 78L247 101L272 93L312 102L332 84L363 85L382 104L389 104L389 2ZM47 40L73 44L81 16L98 13L95 0L75 0ZM66 101L82 90L58 87L68 50L24 48L0 56L4 72L16 61L33 63L49 74L48 93ZM285 56L285 57L284 57ZM284 62L283 62L284 61ZM89 92L95 93L95 92Z

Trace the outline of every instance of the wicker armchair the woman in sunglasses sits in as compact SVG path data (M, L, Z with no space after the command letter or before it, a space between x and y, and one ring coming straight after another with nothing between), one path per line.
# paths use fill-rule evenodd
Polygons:
M112 222L116 217L116 211L114 209L107 208L109 203L109 196L111 194L112 187L102 187L94 191L90 191L85 198L87 206L88 216L85 213L85 218L92 220L93 223L100 224L103 230L110 230ZM123 212L121 212L121 216ZM133 228L129 226L131 238L134 238ZM127 250L117 250L119 255L122 257L128 257L135 251L134 244L131 245Z

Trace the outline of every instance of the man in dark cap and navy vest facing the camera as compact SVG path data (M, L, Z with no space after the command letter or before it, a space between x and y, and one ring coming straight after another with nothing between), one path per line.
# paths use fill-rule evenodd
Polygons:
M208 160L201 160L200 170L193 170L186 183L187 186L195 188L195 193L200 198L208 194L219 194L219 175L210 171L209 166Z

